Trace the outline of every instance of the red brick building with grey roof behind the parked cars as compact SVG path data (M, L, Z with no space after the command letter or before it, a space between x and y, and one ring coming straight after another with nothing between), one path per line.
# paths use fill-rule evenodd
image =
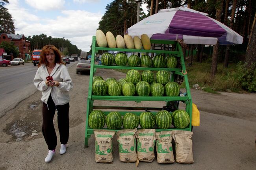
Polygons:
M3 41L14 42L15 46L19 49L20 58L25 59L26 54L30 53L30 41L25 39L23 34L0 34L0 43ZM13 58L12 58L13 59Z

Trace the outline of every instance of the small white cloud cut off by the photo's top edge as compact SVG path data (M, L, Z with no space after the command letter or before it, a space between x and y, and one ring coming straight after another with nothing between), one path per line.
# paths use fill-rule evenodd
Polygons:
M26 3L35 9L50 11L56 9L62 9L65 0L25 0Z

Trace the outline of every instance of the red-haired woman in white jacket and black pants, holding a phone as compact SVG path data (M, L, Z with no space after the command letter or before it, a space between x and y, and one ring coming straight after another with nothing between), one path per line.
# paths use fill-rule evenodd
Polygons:
M43 47L38 67L34 84L39 91L42 91L42 131L49 149L45 162L50 162L57 146L57 136L53 124L55 111L58 117L61 142L59 153L66 152L66 144L69 139L69 91L72 89L73 83L67 67L61 60L59 50L53 45ZM50 78L52 80L47 80L48 76L52 76Z

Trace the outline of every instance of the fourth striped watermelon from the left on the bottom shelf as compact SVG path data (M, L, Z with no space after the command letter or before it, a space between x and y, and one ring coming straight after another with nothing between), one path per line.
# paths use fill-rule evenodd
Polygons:
M141 129L152 129L156 124L155 116L151 112L142 112L139 116Z

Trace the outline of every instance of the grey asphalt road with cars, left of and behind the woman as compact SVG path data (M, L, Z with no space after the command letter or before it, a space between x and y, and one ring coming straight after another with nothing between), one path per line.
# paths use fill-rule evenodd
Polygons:
M70 62L67 67L77 62ZM20 101L37 91L33 84L37 68L33 63L0 67L0 118Z

